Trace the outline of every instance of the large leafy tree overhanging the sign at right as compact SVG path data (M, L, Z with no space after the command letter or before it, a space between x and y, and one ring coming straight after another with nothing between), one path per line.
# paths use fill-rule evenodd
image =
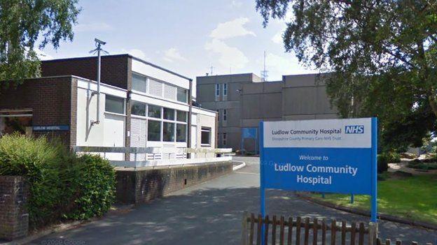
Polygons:
M321 72L342 117L377 116L390 148L436 134L437 3L433 0L256 0L264 18L293 17L287 52Z

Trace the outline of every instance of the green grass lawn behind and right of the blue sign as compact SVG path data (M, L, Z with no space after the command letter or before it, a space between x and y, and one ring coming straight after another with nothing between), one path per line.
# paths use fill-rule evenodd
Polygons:
M350 195L326 194L324 199L320 194L311 195L336 205L370 209L368 195L355 195L354 204L350 203ZM437 224L437 175L378 181L378 213Z

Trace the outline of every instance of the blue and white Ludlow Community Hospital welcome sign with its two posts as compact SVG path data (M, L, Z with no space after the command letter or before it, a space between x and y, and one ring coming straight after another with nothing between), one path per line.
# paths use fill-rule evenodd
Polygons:
M261 121L261 215L265 189L371 195L377 220L377 119Z

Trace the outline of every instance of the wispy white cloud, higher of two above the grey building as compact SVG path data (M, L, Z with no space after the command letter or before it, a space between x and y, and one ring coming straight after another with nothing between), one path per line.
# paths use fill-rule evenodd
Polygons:
M249 31L244 27L244 24L249 22L249 19L246 17L240 17L235 20L230 20L228 22L219 23L216 27L216 29L211 31L211 34L209 36L211 38L216 39L227 39L227 38L233 38L236 36L256 36L253 31Z

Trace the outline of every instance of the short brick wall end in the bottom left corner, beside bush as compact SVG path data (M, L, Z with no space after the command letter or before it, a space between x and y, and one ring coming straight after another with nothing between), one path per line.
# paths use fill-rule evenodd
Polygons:
M0 239L25 237L29 230L27 184L20 176L0 176Z

